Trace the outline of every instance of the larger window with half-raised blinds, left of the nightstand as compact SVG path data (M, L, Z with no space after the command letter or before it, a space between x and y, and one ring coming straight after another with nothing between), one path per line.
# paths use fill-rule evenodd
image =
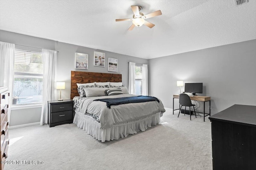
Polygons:
M15 49L12 104L42 103L42 52Z

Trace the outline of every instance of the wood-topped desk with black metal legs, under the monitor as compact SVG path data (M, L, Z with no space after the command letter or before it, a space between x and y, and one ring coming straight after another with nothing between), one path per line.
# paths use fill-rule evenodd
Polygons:
M206 116L211 116L211 109L209 110L209 113L205 113L205 102L209 102L210 106L211 106L211 97L209 96L189 96L190 97L190 100L196 100L196 101L200 101L200 102L204 102L204 121L205 121L205 117ZM174 110L179 110L180 108L178 109L174 109L174 99L179 99L180 98L180 95L179 94L174 94L173 95L173 99L172 99L172 104L173 104L173 110L172 110L172 114L174 115ZM197 111L198 113L202 113L202 112L199 112Z

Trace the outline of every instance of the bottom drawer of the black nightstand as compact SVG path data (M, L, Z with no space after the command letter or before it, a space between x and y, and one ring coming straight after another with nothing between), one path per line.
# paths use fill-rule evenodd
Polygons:
M51 123L73 120L73 110L55 112L51 114Z

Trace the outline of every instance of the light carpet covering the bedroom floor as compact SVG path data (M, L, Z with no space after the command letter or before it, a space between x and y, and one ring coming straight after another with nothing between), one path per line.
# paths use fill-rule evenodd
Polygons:
M6 164L4 169L211 170L208 117L204 122L202 116L192 116L190 121L189 115L181 114L179 118L177 115L178 112L172 115L172 110L166 109L161 124L104 143L75 124L10 129L7 160L15 164Z

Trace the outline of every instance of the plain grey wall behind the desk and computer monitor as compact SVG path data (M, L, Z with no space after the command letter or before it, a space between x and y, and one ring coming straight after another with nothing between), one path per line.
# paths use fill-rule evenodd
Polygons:
M173 108L172 95L180 93L177 80L202 82L198 95L211 96L213 114L234 104L256 106L256 39L150 59L149 65L149 94L165 107Z

